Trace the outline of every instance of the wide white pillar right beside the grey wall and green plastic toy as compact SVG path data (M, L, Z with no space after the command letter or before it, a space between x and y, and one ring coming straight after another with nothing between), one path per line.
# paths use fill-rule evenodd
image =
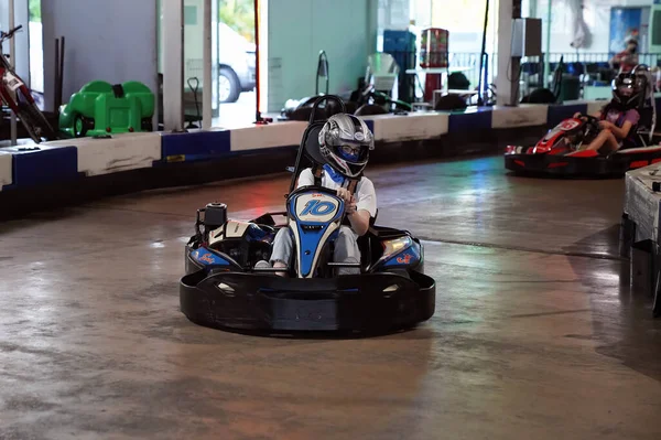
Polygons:
M163 0L163 129L184 130L184 0Z

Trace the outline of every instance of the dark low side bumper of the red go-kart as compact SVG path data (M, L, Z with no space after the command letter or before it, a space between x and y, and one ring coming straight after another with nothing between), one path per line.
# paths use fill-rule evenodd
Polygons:
M505 154L505 168L518 174L557 176L621 176L629 170L647 167L661 152L616 153L609 157L577 158L553 154Z

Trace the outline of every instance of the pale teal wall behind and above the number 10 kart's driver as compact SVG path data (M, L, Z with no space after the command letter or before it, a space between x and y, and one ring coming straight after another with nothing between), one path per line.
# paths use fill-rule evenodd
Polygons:
M356 88L376 52L378 0L269 0L268 15L268 111L314 94L321 50L329 92Z

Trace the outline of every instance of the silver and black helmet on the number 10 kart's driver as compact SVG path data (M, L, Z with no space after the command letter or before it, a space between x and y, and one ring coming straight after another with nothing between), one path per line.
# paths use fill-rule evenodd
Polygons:
M328 164L348 179L358 178L375 149L367 124L348 114L333 115L319 131L319 149Z

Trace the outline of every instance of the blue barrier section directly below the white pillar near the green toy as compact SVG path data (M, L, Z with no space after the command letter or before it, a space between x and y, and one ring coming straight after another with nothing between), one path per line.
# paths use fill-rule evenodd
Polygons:
M162 160L165 162L208 160L230 151L229 130L164 133L161 138Z

